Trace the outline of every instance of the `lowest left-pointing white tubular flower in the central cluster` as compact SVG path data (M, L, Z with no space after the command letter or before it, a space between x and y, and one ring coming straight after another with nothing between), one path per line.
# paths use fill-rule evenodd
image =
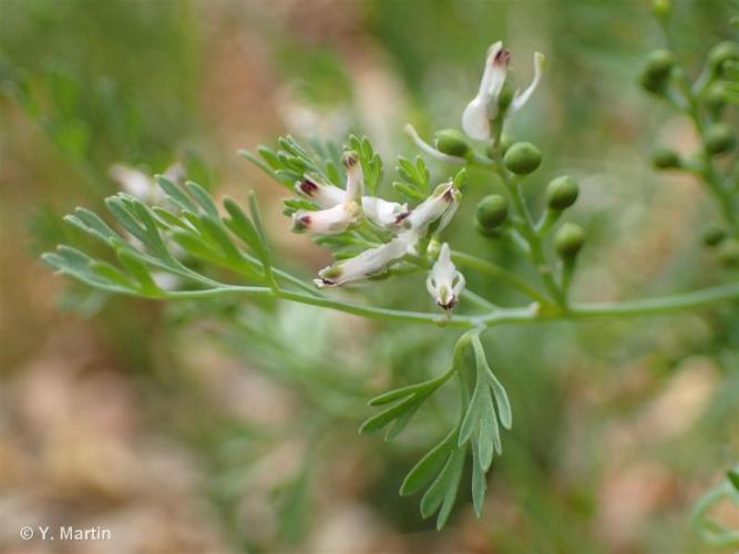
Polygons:
M369 248L358 256L337 261L332 266L318 271L318 279L314 283L318 287L338 287L384 271L391 264L402 258L407 253L406 242L394 238L389 243Z

